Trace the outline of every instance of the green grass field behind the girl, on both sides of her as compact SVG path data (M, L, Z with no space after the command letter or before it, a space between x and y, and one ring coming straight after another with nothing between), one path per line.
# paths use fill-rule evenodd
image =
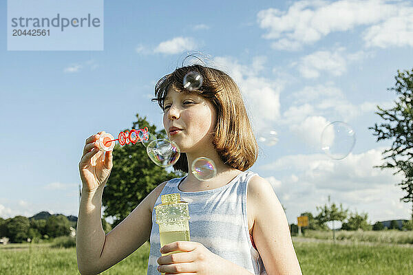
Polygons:
M413 247L294 238L303 274L412 274ZM101 274L146 274L149 243ZM0 274L79 274L75 248L0 245Z

